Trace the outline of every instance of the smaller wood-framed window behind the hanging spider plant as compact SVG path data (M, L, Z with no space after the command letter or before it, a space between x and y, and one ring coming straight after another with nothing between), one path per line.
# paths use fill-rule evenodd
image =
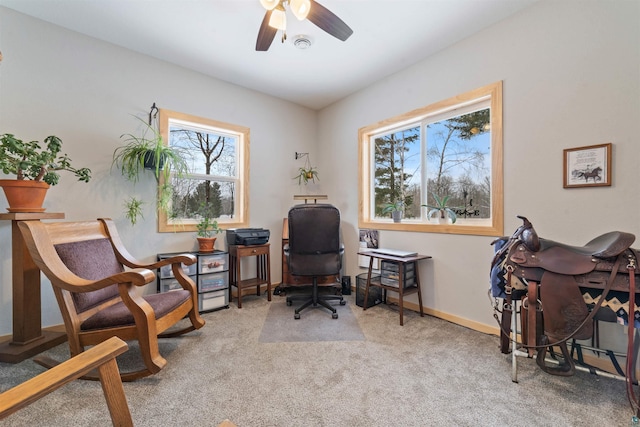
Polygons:
M160 110L160 132L189 163L187 176L171 175L168 213L159 230L195 231L205 212L224 228L249 223L249 129Z

